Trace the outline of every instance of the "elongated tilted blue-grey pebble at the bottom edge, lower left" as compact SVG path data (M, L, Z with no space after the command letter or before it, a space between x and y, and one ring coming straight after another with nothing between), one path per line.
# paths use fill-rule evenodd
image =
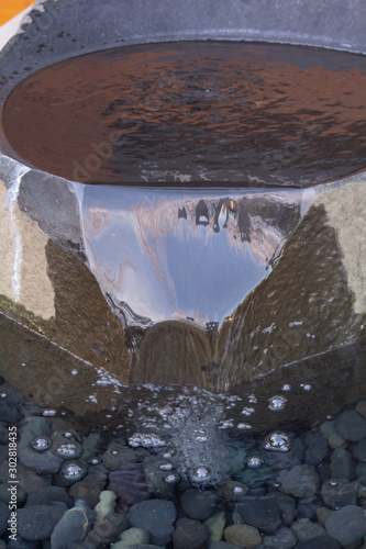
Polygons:
M80 544L91 529L96 513L88 505L78 501L56 524L52 536L52 549L69 549L74 544Z

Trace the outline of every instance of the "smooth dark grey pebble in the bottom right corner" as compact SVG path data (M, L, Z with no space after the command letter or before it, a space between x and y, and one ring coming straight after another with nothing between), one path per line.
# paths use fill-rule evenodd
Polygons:
M366 534L364 509L356 505L346 505L335 511L325 523L326 534L337 539L342 546L357 546Z

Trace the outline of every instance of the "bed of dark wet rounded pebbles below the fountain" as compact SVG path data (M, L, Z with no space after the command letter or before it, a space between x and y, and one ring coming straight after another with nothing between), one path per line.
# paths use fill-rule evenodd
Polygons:
M0 549L366 548L366 401L308 432L242 434L228 446L233 473L210 482L204 466L179 475L162 445L79 435L5 382L0 391Z

